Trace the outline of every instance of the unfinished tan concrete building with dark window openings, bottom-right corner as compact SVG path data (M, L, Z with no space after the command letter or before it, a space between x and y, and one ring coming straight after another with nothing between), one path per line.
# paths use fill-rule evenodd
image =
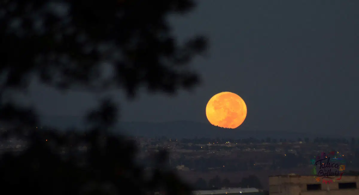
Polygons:
M312 176L279 175L269 177L270 195L359 195L358 176L342 176L330 184Z

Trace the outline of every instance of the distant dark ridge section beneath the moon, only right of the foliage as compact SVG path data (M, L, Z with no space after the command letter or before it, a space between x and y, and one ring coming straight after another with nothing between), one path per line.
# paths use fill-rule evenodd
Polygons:
M166 136L168 138L232 138L245 139L257 138L265 139L270 137L272 139L293 139L297 138L315 138L321 136L320 134L309 134L294 131L273 131L273 130L243 130L225 129L216 127L211 124L193 122L193 121L172 121L172 122L122 122L121 128L127 134L144 137L160 137ZM335 135L328 135L334 137Z

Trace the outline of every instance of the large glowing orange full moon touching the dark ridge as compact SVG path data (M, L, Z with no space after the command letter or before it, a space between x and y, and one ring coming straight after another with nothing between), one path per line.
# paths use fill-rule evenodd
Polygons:
M235 129L246 119L247 106L237 94L221 92L208 101L206 116L212 125Z

